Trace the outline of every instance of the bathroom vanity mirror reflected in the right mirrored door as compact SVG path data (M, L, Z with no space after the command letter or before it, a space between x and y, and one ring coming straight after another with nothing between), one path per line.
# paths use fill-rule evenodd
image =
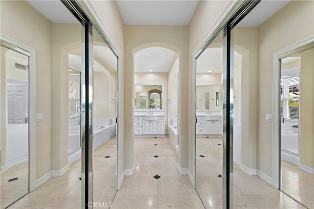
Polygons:
M199 110L211 110L219 111L221 85L197 85L196 86L196 98L197 107Z

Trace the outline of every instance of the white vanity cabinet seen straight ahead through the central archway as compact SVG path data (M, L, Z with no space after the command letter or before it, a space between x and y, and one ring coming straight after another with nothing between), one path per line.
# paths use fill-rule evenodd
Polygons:
M135 135L164 135L165 117L158 116L134 116L134 134Z

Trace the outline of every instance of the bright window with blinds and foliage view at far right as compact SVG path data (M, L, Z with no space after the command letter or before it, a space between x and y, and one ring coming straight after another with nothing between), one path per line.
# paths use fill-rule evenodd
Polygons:
M299 83L299 77L282 77L280 117L299 119Z

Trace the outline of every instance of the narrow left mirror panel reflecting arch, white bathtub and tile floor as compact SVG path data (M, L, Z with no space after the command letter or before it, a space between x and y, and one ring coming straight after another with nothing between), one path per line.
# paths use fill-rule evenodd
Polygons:
M117 57L93 29L93 201L113 201L117 192Z

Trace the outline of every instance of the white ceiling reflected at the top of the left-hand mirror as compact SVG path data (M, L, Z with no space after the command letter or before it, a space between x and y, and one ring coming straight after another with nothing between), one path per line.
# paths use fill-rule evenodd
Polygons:
M60 0L26 0L52 23L78 23Z

